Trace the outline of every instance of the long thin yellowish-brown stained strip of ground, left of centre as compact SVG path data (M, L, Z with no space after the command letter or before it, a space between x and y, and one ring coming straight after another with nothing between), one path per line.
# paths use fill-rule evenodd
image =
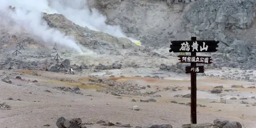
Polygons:
M54 83L54 84L62 84L66 86L77 86L81 89L86 89L86 90L102 90L106 89L102 86L98 86L95 84L84 84L84 83L76 83L76 82L65 82L65 81L57 81L57 80L42 80L42 82L48 82L48 83Z

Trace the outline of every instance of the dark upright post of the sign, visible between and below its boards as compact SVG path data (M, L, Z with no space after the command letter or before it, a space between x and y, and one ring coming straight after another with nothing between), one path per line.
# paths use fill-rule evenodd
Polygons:
M196 41L197 37L191 37L191 41ZM191 52L191 56L196 56L196 52ZM192 62L191 67L197 66L197 63ZM190 119L191 124L197 123L197 74L191 73L191 106L190 106Z

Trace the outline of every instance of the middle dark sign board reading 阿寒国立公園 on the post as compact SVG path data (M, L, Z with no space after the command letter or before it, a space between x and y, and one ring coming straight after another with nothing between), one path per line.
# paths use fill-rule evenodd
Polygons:
M211 57L210 56L188 56L188 55L179 55L180 57L180 62L185 62L185 63L212 63Z

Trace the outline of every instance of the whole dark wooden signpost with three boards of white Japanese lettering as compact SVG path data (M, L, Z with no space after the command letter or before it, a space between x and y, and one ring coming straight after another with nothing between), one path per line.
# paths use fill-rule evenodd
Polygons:
M197 73L204 73L203 66L197 66L197 63L212 63L210 56L197 56L197 52L216 52L218 43L215 40L197 40L197 37L191 37L191 40L174 40L170 43L169 52L190 52L191 55L179 55L180 62L191 63L186 67L186 73L191 74L191 123L197 123Z

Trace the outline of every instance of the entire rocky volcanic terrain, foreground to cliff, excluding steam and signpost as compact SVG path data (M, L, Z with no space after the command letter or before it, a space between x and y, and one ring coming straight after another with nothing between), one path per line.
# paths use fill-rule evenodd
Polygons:
M198 74L198 123L256 126L255 1L87 2L142 46L61 14L44 13L42 20L74 36L84 53L0 25L1 127L61 127L60 117L73 119L66 121L70 128L189 124L188 64L178 63L180 54L168 50L170 40L190 36L220 40L218 52L198 54L213 61ZM68 74L70 68L74 75ZM76 126L67 126L69 121L77 121Z

